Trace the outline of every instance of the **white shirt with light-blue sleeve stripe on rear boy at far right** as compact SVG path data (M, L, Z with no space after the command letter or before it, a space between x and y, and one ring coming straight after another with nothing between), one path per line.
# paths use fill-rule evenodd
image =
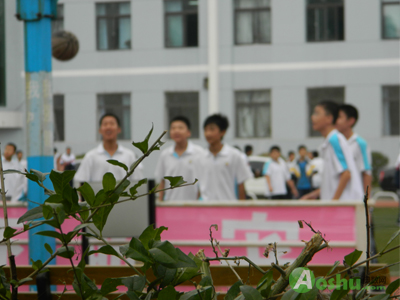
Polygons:
M371 151L367 142L356 133L348 139L348 142L358 172L360 172L360 174L366 172L371 175Z

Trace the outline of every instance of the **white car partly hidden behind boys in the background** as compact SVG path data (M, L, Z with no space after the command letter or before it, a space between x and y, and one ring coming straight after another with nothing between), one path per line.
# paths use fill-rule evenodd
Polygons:
M265 199L267 189L267 181L262 176L264 164L271 158L266 156L249 156L250 168L253 171L254 178L245 181L244 186L246 193L253 199Z

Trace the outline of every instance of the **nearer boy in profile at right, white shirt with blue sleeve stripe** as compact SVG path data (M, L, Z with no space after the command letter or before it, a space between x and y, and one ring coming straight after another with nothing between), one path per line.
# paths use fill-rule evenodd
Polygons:
M325 141L321 146L324 160L321 189L301 199L362 201L363 190L360 174L346 138L335 128L339 105L333 101L321 101L311 116L313 129L321 132Z

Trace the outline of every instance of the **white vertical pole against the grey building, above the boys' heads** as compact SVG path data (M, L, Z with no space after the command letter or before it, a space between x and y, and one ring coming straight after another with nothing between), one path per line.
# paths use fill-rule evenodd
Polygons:
M208 0L208 113L219 111L218 0Z

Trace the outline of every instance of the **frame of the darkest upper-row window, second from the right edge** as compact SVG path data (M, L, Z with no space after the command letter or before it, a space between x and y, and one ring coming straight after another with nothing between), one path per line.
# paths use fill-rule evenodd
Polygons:
M321 43L321 42L340 42L346 40L346 10L345 10L345 2L342 1L341 4L338 3L313 3L308 4L308 0L306 0L306 42L307 43ZM327 15L328 8L332 7L343 7L343 39L323 39L323 40L309 40L308 37L308 14L310 10L315 10L316 8L322 8L324 10L324 15ZM335 10L335 20L338 19L337 10ZM327 35L328 28L328 18L324 17L324 36ZM339 35L339 26L338 22L335 22L335 37Z

